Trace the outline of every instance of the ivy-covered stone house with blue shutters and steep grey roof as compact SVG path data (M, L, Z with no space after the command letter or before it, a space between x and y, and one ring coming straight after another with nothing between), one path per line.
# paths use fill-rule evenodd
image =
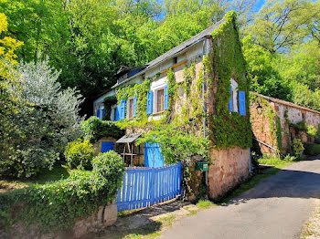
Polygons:
M249 176L249 82L234 12L145 66L120 68L117 78L94 101L93 113L125 126L127 135L115 148L128 165L164 165L161 143L136 146L134 140L175 122L188 134L209 140L211 199Z

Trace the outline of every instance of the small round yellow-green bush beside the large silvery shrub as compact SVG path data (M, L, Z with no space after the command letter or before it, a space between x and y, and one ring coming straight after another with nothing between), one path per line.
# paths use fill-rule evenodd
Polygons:
M81 139L78 139L68 143L64 155L68 162L68 166L71 169L91 170L91 161L94 157L94 153L95 151L89 140L82 141Z

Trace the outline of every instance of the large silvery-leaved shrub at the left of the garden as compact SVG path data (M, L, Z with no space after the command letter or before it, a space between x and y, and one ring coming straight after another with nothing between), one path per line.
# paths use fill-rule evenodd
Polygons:
M19 84L8 93L24 104L7 115L15 133L2 138L1 175L30 177L41 169L51 169L69 140L80 136L80 95L75 89L60 90L59 72L50 68L48 58L20 63Z

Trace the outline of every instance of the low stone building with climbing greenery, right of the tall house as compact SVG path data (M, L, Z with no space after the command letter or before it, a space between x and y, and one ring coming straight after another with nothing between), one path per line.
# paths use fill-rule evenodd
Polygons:
M318 130L320 112L251 92L252 132L262 153L288 153L295 138L313 143L315 137L305 130L297 130L296 125L303 121L305 126Z

